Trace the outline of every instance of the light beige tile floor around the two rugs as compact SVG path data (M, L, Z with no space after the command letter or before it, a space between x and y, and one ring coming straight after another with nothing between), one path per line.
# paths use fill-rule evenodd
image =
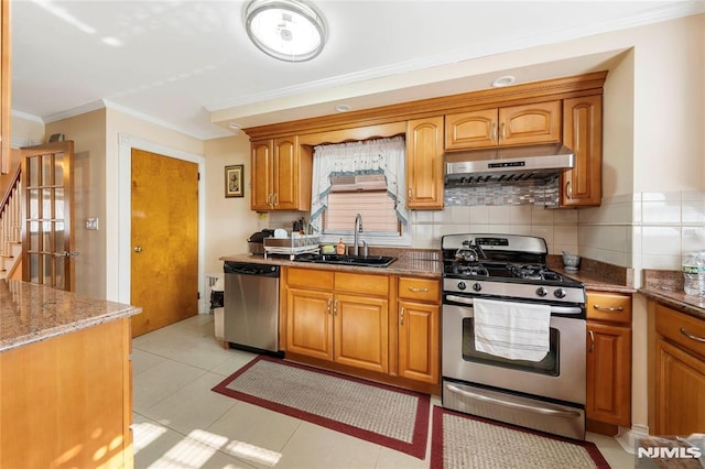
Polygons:
M210 391L252 360L214 338L198 315L137 337L132 346L134 466L141 468L427 468L405 454ZM434 397L433 404L440 405ZM431 437L431 430L429 430ZM633 456L588 434L615 469ZM540 469L540 468L539 468Z

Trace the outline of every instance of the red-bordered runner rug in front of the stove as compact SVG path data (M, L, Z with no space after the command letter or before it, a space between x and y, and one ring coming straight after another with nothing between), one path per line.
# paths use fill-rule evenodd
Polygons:
M608 469L590 441L536 434L433 407L431 469Z

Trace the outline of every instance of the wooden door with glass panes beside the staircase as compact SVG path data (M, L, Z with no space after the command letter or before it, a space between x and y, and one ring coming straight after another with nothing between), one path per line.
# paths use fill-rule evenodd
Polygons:
M22 280L74 291L74 142L22 150Z

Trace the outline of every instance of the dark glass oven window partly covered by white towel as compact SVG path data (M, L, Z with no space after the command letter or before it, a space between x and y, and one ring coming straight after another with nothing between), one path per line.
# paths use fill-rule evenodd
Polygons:
M546 374L549 377L557 377L558 370L558 345L560 332L557 329L550 328L550 347L549 353L541 361L528 360L510 360L503 357L497 357L490 353L477 351L475 349L475 327L474 318L466 317L463 319L463 359L475 363L484 363L492 367L503 367L513 370L529 371L532 373Z

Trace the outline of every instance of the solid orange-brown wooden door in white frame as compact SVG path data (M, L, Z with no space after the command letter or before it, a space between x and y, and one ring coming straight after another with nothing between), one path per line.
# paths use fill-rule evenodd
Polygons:
M198 165L132 150L131 194L135 337L198 314Z

